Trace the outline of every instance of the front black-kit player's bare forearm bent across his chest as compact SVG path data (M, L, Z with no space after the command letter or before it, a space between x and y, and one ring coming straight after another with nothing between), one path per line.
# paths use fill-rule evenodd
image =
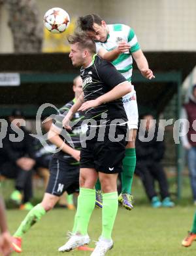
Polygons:
M105 102L122 98L122 96L127 95L127 93L131 93L131 86L128 81L125 81L116 85L112 90L108 91L108 93L105 93L105 95L99 96L96 100L88 100L84 102L79 110L85 111L89 108L95 108Z

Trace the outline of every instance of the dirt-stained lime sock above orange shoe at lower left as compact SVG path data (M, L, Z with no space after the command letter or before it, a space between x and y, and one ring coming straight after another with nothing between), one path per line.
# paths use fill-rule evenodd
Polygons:
M31 226L37 223L37 221L39 221L45 214L46 211L42 207L41 203L35 205L35 207L29 211L24 221L22 221L14 236L22 237L31 228Z

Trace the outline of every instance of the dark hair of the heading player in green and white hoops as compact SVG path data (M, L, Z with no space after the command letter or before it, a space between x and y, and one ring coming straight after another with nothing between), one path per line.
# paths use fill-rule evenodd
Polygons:
M78 27L82 31L92 31L95 32L93 29L93 23L101 25L102 18L97 14L88 14L86 16L81 16L78 18Z

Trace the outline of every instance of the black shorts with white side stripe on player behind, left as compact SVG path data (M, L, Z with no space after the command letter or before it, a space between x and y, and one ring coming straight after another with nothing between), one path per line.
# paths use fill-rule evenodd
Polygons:
M67 191L67 194L79 192L79 165L70 165L65 161L52 158L49 169L50 179L46 193L61 196L65 191Z

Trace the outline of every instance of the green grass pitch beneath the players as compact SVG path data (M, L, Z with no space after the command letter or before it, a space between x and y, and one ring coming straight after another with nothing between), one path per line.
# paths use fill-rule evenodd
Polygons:
M175 200L176 184L170 179L170 190ZM10 184L3 184L3 195L8 199ZM184 178L182 200L173 209L152 209L146 198L139 179L134 179L133 192L135 208L127 211L120 207L114 226L114 249L107 253L111 256L189 256L195 255L196 242L189 248L181 246L181 241L191 228L195 207L191 199L188 177ZM35 200L41 200L43 190L36 187ZM8 202L8 200L7 200ZM9 202L7 203L8 206ZM26 212L8 209L7 219L13 234ZM57 248L66 241L66 232L73 226L74 212L67 209L54 209L35 224L24 236L24 256L61 255ZM101 210L93 212L89 234L97 241L101 234ZM91 246L94 243L91 242ZM90 255L90 252L73 251L64 255Z

